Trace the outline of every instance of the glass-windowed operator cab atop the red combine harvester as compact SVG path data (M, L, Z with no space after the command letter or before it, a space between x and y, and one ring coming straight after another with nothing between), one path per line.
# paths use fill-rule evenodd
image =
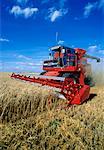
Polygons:
M54 46L50 48L49 60L44 61L43 67L68 67L76 66L75 49L65 46Z

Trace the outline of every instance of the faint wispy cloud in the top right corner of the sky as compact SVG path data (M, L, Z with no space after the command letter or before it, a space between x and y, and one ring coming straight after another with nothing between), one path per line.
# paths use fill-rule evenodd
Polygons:
M91 12L97 8L97 4L98 4L97 2L95 2L95 3L88 3L84 7L84 17L85 18L89 17L89 15L91 14Z

